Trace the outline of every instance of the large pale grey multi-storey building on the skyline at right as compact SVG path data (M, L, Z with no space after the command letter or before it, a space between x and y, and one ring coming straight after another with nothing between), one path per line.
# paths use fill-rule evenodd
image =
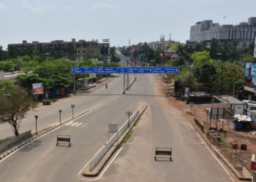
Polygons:
M238 47L242 44L246 46L255 41L256 36L256 17L249 17L248 22L239 25L219 25L212 20L204 20L195 23L190 27L189 41L237 41Z

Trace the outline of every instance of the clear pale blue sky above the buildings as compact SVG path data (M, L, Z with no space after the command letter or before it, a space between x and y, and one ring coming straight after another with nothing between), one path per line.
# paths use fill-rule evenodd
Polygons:
M238 24L256 17L256 0L0 0L0 45L23 40L110 39L124 46L165 39L185 42L202 20Z

